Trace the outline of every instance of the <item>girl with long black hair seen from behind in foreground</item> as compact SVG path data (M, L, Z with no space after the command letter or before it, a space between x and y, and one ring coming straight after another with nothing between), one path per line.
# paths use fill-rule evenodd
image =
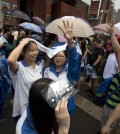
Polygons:
M16 134L68 134L67 101L63 98L53 109L42 95L44 92L50 96L47 91L51 82L49 78L41 78L32 84L29 105L17 123Z

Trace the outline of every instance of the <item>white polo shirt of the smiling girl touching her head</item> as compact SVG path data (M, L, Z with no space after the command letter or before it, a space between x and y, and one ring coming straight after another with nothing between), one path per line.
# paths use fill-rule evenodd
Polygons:
M12 84L15 90L13 100L13 117L21 115L28 105L28 96L31 85L42 78L43 64L36 63L35 69L28 66L25 61L17 62L19 65L16 73L10 71Z

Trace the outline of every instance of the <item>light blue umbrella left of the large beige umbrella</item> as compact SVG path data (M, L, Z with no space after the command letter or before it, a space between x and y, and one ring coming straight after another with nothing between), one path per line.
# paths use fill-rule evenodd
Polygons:
M33 23L23 22L23 23L19 24L19 26L24 28L24 29L31 30L33 32L43 33L42 30L40 29L40 27L33 24Z

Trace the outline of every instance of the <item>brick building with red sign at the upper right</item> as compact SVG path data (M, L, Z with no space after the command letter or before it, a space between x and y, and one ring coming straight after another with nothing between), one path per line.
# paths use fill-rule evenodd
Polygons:
M111 0L94 0L93 3L91 2L89 11L89 23L92 26L95 26L100 23L111 22L113 18L112 14L114 11L113 8L114 5Z

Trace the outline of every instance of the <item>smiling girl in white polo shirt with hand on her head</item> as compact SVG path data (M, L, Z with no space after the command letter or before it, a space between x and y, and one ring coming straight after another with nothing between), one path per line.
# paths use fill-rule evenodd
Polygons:
M24 59L17 62L20 54ZM15 90L13 117L17 122L28 104L29 89L33 82L42 78L43 63L37 62L38 46L29 38L23 39L8 57L12 84Z

